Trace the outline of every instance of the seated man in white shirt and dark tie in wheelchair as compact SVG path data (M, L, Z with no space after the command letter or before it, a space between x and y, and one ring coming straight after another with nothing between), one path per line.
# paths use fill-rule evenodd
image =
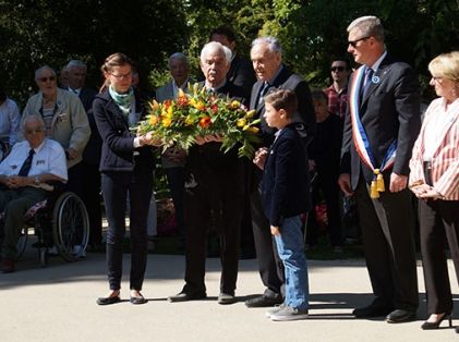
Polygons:
M32 114L22 124L23 142L16 143L0 163L0 228L3 272L14 272L20 230L24 215L34 204L45 199L52 190L49 182L68 180L65 152L62 146L45 138L45 123Z

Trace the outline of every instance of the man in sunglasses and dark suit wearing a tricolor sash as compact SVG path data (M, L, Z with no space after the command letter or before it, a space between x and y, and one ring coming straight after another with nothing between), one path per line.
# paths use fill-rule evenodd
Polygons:
M418 78L410 65L386 51L377 17L354 20L348 34L348 52L362 66L350 81L338 183L346 195L355 195L375 295L353 315L409 321L419 305L414 220L407 188L421 125Z

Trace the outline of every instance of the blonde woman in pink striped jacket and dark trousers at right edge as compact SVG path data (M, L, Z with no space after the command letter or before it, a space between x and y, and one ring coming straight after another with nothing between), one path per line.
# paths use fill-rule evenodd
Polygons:
M410 160L410 187L420 199L421 252L430 314L422 325L424 330L437 329L444 319L451 327L454 305L446 240L459 282L459 51L436 57L428 70L431 85L439 97L426 110Z

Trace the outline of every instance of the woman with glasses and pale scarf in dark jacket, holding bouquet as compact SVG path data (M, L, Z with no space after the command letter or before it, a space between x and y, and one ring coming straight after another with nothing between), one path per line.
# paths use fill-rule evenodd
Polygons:
M120 302L122 253L125 233L126 196L130 200L131 300L144 304L147 240L146 221L155 167L152 146L145 136L134 136L131 127L144 115L142 99L132 87L132 61L123 53L109 56L101 71L105 89L93 102L97 129L102 138L101 188L108 220L107 264L110 292L97 304Z

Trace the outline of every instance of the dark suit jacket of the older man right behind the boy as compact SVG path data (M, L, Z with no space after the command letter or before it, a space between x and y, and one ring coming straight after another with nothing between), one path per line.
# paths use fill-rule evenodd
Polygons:
M274 129L268 127L263 114L265 112L265 101L258 101L259 91L264 82L258 81L253 85L251 95L251 109L256 109L255 118L261 118L261 134L263 138L263 146L270 146L274 141ZM279 75L273 84L269 85L269 91L274 89L290 89L297 94L298 97L298 112L293 115L293 122L298 123L297 130L305 145L307 145L315 132L315 114L311 99L311 91L307 83L298 74L292 73L287 66L283 65Z

